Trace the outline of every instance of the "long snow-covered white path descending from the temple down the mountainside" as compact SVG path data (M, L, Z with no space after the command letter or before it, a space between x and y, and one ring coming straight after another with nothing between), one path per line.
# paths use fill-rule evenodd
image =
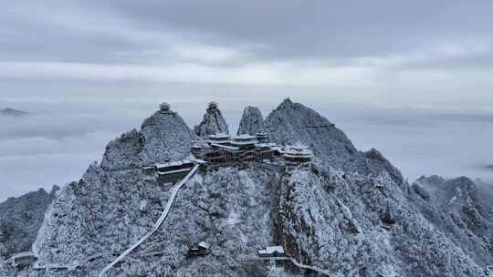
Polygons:
M154 226L152 227L152 230L149 231L147 234L145 234L139 241L135 242L134 244L131 245L129 249L126 251L122 252L118 258L116 258L113 262L108 264L102 271L100 272L100 277L103 277L106 272L108 272L115 264L121 262L128 254L131 253L135 248L137 248L139 245L142 244L143 241L147 240L152 234L159 229L159 227L163 224L164 220L166 220L166 217L168 216L168 213L171 210L171 207L173 205L173 201L176 198L176 194L178 193L178 190L180 190L183 186L184 183L189 180L192 176L194 176L195 171L200 167L200 164L195 164L194 169L192 169L185 177L183 180L181 180L179 183L174 185L172 189L172 193L170 195L170 198L168 199L168 202L166 203L166 206L164 207L163 213L161 214L161 217L159 218L156 223L154 223Z

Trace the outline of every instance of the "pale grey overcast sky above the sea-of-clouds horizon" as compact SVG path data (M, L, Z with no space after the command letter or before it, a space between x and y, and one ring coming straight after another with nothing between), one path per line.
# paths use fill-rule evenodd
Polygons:
M129 97L128 89L100 88L125 82L146 90L155 83L163 90L173 83L271 87L276 94L298 87L385 105L409 103L410 93L414 105L454 105L468 91L466 102L490 105L492 5L16 1L0 11L0 79L12 85L8 98L52 94L64 82L72 82L66 95L99 89L96 98ZM26 89L39 81L41 92Z

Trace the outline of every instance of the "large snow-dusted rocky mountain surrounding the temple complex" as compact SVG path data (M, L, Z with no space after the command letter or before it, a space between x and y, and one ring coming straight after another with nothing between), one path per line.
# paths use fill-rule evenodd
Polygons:
M265 123L272 141L303 142L316 163L292 174L257 163L200 169L163 225L106 276L313 273L258 260L256 251L267 245L283 245L290 257L331 276L484 276L491 250L480 249L488 241L479 237L491 239L485 222L491 210L470 184L461 181L450 191L445 180L410 186L377 150L358 151L329 120L288 99ZM97 276L152 228L170 197L170 186L144 176L140 167L182 159L191 139L181 118L154 114L141 130L110 142L101 164L60 190L34 243L39 265L82 265L72 272L17 274ZM444 204L452 195L461 204L449 216ZM462 230L450 231L450 224ZM211 253L188 257L199 241Z

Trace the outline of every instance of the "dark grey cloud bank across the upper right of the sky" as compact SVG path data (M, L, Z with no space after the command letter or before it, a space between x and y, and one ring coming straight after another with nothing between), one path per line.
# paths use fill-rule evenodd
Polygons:
M272 56L381 56L432 40L488 36L493 4L456 1L104 1L136 24L192 30ZM467 37L466 36L466 37Z

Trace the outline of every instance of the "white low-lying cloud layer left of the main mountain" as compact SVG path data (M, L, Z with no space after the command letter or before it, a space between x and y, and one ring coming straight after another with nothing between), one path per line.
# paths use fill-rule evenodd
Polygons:
M105 144L129 128L129 121L105 117L104 110L0 117L0 200L78 180L91 161L100 159Z

